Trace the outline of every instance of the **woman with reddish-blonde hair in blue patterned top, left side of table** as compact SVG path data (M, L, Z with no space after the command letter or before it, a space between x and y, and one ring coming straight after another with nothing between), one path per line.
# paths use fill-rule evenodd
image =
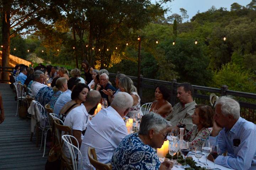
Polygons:
M59 96L66 90L68 90L68 81L66 80L66 78L61 77L61 78L57 79L56 84L53 87L54 93L49 102L51 108L54 108L55 102L57 101Z

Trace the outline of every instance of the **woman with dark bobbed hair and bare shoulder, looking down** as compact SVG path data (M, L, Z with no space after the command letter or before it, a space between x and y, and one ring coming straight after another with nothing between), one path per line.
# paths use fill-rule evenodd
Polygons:
M73 109L85 102L87 93L90 91L89 87L84 83L77 84L72 93L71 101L66 103L63 108L60 110L59 118L64 122L66 115Z

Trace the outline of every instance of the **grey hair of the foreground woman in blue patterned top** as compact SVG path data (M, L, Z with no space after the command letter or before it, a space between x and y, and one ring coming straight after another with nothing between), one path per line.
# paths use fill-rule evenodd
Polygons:
M145 114L142 117L138 134L148 135L148 132L150 129L161 131L167 126L169 126L169 123L165 118L161 117L160 114L151 112L151 113Z

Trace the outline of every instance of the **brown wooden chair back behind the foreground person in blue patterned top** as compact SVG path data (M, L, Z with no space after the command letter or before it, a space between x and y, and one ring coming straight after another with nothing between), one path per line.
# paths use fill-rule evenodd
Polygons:
M88 158L92 166L96 168L96 170L112 170L111 164L103 164L98 162L97 155L95 149L90 147L88 148Z

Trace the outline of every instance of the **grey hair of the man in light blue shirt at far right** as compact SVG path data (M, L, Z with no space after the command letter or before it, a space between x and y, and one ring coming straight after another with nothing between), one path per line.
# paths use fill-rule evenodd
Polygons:
M240 117L240 105L237 101L229 96L222 96L216 102L216 105L221 105L221 112L224 116L229 114L233 115L234 119L239 119Z

